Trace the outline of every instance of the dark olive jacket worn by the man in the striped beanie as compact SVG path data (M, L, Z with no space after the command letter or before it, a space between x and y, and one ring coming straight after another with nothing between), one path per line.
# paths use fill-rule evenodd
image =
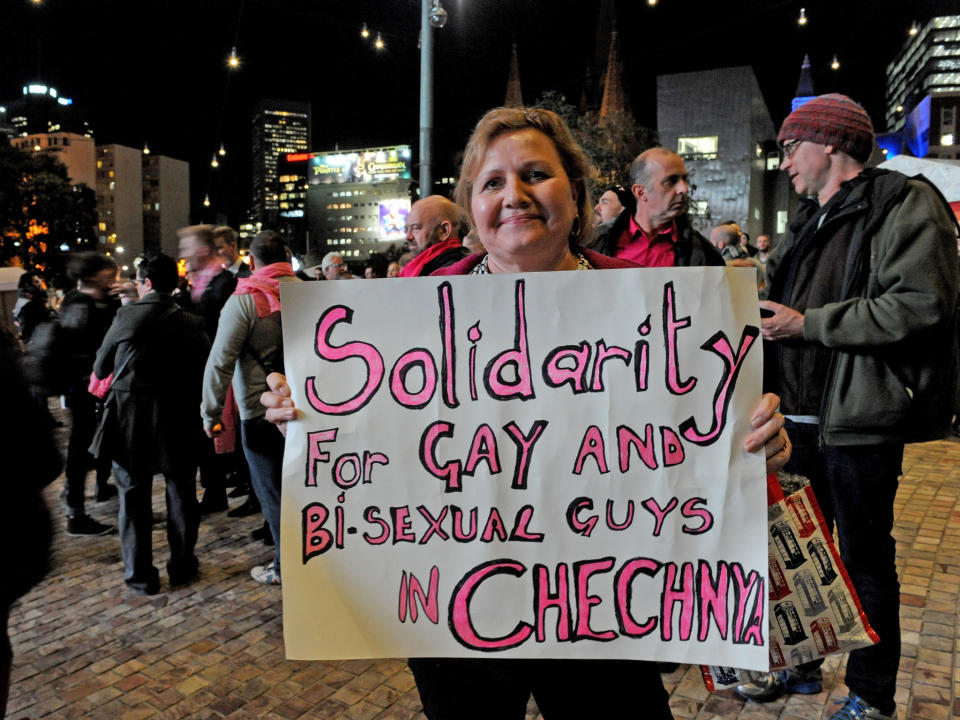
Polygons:
M830 445L943 437L958 373L952 218L926 182L900 173L865 170L840 192L819 228L819 207L805 206L767 261L770 299L800 298L794 309L804 315L803 342L765 353L774 360L768 389L786 388L783 411L798 413L802 385L822 375L816 414ZM801 241L807 253L843 248L840 267L808 265L809 287L798 287Z

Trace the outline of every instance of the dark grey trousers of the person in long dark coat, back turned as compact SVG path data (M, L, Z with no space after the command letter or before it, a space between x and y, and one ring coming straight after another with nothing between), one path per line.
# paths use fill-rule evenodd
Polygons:
M160 578L153 566L153 474L133 475L118 463L113 474L120 491L120 554L123 579L137 590L156 590ZM167 573L180 582L197 569L193 554L200 527L197 503L196 465L181 467L164 476L167 486L167 544L170 560Z

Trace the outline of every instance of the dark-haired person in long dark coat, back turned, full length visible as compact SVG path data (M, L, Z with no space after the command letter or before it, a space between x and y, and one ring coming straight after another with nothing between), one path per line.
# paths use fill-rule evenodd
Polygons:
M160 589L152 553L155 473L163 473L167 486L171 586L190 582L198 566L196 474L202 429L196 404L183 397L200 397L210 341L203 321L174 302L176 285L172 258L158 255L140 263L140 300L117 313L97 352L90 387L105 395L103 437L120 487L124 581L144 595Z

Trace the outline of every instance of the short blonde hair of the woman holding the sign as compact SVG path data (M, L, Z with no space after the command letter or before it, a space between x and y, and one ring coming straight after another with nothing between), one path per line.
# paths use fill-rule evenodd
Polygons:
M587 193L587 179L593 173L593 166L583 152L583 148L573 139L570 128L552 110L537 107L494 108L480 118L463 153L463 164L460 166L460 179L457 181L454 199L458 205L466 209L471 224L476 227L471 207L473 181L480 172L490 144L500 135L526 128L539 130L550 138L557 149L557 154L560 155L560 161L570 179L570 184L577 191L577 216L580 223L576 232L571 233L570 241L583 245L590 237L593 227L593 207Z

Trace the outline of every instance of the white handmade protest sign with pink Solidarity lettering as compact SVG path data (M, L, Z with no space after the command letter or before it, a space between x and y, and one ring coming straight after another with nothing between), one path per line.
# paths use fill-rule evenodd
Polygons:
M767 667L754 273L282 285L287 656Z

